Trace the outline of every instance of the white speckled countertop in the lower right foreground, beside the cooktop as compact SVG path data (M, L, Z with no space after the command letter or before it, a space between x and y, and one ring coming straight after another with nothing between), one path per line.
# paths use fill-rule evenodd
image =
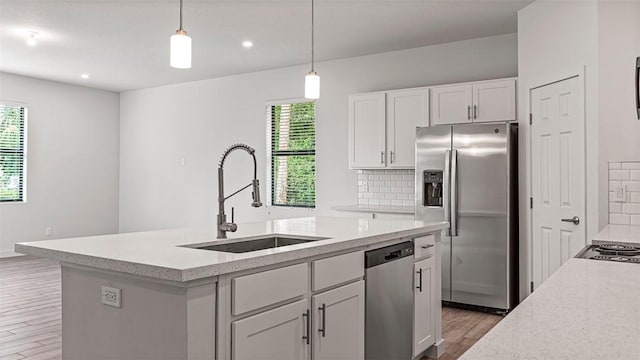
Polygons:
M460 359L640 359L640 265L569 259Z

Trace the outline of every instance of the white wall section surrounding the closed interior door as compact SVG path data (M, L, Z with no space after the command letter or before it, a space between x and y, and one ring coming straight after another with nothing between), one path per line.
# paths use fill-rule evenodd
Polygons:
M584 69L587 174L598 173L598 4L539 0L518 12L520 123L520 294L530 281L531 212L529 89ZM524 165L524 166L523 166ZM587 178L587 236L599 230L598 179ZM605 205L606 206L606 205ZM523 226L524 225L524 226Z

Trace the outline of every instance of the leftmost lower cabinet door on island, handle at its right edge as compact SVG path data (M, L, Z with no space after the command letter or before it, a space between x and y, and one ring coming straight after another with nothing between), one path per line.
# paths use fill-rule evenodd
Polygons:
M310 345L308 300L300 300L246 319L234 321L232 358L235 360L305 360Z

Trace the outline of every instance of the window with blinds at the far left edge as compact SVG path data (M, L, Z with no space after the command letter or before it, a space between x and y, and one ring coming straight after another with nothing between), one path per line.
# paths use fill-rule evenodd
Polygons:
M0 104L0 202L24 201L26 109Z

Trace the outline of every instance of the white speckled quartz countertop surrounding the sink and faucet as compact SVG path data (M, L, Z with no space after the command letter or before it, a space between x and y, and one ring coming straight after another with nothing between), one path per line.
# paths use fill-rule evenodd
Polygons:
M212 227L35 241L18 243L15 250L70 264L186 282L441 231L446 226L446 222L310 217L238 224L238 231L227 233L226 240L216 240ZM328 239L237 254L181 247L269 234Z

